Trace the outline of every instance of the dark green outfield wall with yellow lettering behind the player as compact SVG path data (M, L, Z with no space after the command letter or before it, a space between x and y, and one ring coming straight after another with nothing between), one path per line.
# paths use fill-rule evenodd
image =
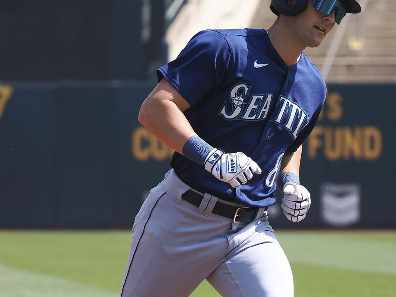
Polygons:
M131 227L170 169L171 149L139 125L154 82L0 85L0 228ZM333 85L304 144L301 181L312 194L293 224L395 228L396 85Z

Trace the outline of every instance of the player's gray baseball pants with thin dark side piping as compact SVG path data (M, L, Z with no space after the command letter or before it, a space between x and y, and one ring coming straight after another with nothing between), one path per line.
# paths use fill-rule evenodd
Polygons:
M289 262L264 209L251 223L211 213L229 202L191 189L170 170L148 195L133 225L121 297L184 297L206 279L226 297L293 297ZM231 204L237 205L237 204Z

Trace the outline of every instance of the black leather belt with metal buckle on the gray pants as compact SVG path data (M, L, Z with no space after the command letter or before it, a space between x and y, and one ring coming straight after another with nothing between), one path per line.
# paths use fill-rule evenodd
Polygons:
M187 190L187 192L182 195L182 199L199 207L203 196L192 190ZM232 219L234 223L249 223L256 218L258 210L258 207L235 207L217 202L214 205L212 213Z

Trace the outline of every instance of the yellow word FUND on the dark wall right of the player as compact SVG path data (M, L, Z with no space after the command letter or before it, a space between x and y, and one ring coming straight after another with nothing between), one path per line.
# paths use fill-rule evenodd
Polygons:
M372 126L316 126L308 138L308 157L316 159L320 152L330 161L375 160L382 153L382 134Z

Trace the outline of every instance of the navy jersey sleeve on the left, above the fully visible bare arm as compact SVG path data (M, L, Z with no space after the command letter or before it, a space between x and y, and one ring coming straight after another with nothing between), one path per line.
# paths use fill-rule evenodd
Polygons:
M214 30L198 32L179 56L157 70L158 81L164 77L194 105L219 86L230 67L231 50L225 37Z

